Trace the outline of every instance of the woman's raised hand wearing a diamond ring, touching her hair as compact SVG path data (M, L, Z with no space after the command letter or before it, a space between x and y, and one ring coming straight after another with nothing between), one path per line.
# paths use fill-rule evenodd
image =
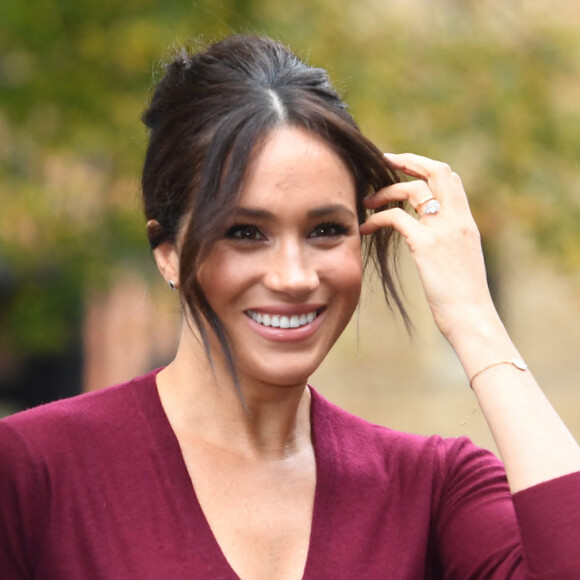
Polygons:
M459 176L448 165L419 155L386 157L396 169L417 180L386 187L367 198L365 206L376 209L391 201L408 201L419 219L399 208L380 211L361 226L361 233L392 227L403 236L435 322L451 343L476 323L498 320L487 286L479 231ZM433 198L440 207L428 213L434 203L428 200Z

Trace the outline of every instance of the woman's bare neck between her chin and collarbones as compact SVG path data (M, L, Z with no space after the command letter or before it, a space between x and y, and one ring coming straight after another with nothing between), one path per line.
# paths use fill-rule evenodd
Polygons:
M182 338L173 362L157 375L161 402L178 437L245 456L284 458L311 445L306 384L271 385L240 377L236 391L221 352L213 368L200 341Z

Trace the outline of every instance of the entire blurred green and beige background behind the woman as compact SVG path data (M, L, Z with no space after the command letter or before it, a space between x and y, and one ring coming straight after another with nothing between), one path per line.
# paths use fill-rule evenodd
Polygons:
M187 39L264 33L326 68L386 151L447 161L516 344L580 437L580 5L567 0L0 3L0 415L168 362L140 114ZM402 251L410 337L369 277L312 384L371 421L495 449Z

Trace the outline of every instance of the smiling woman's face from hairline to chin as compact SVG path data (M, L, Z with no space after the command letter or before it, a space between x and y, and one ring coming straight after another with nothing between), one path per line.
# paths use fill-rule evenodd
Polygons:
M350 320L361 280L352 175L318 137L274 131L199 269L240 380L304 383Z

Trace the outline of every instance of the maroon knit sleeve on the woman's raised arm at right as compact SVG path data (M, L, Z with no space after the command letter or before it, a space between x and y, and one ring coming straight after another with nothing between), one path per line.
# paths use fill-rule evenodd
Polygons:
M441 469L434 521L442 577L580 577L580 474L512 496L501 463L462 439Z

